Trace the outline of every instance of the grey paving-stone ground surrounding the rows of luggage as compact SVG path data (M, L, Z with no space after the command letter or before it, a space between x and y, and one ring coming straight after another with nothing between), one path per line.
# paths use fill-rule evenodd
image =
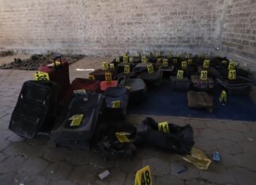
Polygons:
M70 80L88 77L77 68L100 68L101 61L111 58L85 57L70 65ZM142 148L132 161L125 159L105 162L100 154L87 150L55 147L47 136L22 139L8 130L10 115L25 80L32 80L32 71L0 70L0 184L17 185L107 185L134 184L135 172L150 165L152 182L157 185L254 185L256 182L256 123L233 120L209 120L188 117L156 117L157 121L191 124L195 146L212 157L221 154L220 163L201 171L176 154ZM139 124L150 115L127 115L126 120ZM186 165L188 171L178 174ZM111 175L100 180L104 170Z

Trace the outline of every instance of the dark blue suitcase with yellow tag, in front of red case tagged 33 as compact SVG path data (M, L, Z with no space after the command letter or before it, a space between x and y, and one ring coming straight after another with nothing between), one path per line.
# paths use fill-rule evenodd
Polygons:
M120 120L126 115L128 91L126 87L108 87L104 92L106 99L105 116L108 120Z

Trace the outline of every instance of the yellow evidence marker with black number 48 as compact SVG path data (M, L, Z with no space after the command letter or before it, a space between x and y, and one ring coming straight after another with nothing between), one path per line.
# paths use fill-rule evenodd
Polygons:
M136 172L134 185L152 185L152 176L149 165Z

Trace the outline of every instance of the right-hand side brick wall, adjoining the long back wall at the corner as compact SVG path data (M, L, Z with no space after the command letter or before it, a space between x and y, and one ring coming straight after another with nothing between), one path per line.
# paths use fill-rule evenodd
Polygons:
M221 48L239 61L250 60L256 64L256 0L227 1Z

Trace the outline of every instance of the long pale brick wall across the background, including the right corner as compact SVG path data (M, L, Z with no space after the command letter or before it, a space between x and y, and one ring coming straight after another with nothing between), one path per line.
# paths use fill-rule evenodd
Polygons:
M137 50L197 53L222 46L254 54L255 6L250 5L255 1L1 0L0 47L109 55Z

